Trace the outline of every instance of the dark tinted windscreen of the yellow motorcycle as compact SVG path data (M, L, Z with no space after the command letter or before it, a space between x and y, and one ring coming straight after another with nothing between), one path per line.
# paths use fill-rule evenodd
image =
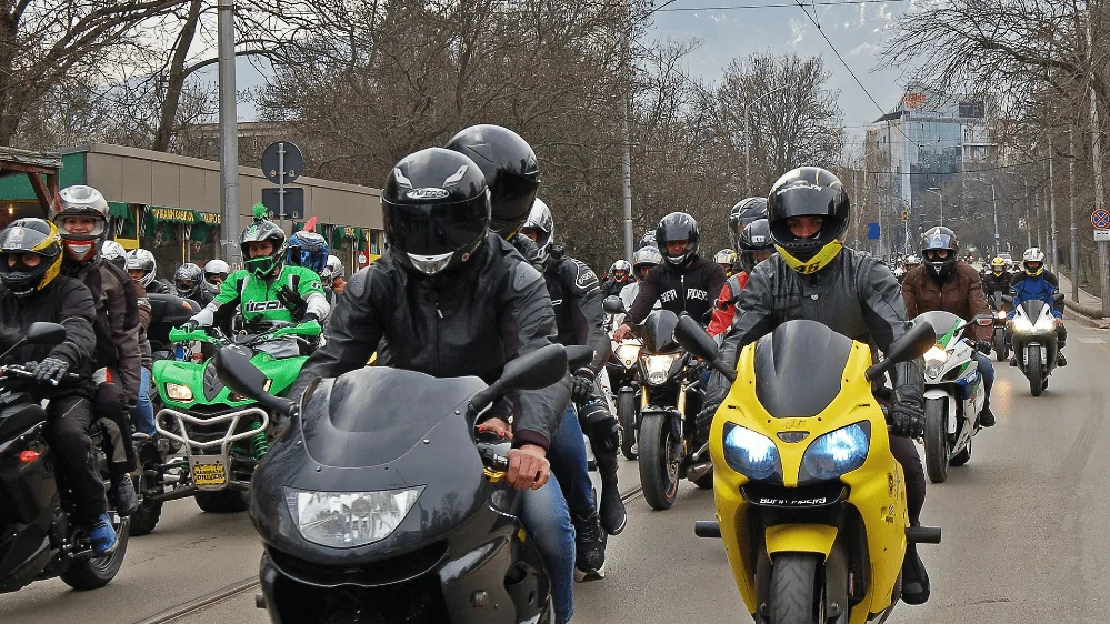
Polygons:
M820 414L840 394L851 339L814 321L788 321L756 343L756 397L777 419Z

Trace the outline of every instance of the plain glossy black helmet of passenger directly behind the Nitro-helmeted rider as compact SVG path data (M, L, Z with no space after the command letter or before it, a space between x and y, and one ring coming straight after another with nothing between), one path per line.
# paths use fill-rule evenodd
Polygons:
M506 240L528 219L540 188L540 163L519 134L500 125L471 125L447 143L466 154L486 175L490 190L490 230Z

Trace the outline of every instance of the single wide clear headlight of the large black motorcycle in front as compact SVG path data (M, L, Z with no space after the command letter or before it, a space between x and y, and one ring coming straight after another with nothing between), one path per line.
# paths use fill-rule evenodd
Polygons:
M417 503L424 486L380 492L304 492L286 487L286 504L301 536L332 548L384 540Z

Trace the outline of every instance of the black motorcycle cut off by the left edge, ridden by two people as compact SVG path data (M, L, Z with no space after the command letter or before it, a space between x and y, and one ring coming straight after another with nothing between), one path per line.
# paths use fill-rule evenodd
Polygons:
M11 350L63 340L64 326L34 323ZM77 375L70 373L61 383L74 379ZM0 366L0 593L54 576L74 590L103 587L123 565L129 520L114 513L108 496L108 516L119 543L111 553L96 556L86 531L71 521L72 491L57 479L43 432L47 412L27 392L37 383L42 382L34 380L29 368ZM101 423L94 422L91 461L107 486L108 460L101 450L106 436Z

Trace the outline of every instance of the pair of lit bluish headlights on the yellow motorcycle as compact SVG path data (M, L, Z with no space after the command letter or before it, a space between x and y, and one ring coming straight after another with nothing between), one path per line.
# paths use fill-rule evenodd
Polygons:
M819 480L837 479L860 467L871 446L870 429L870 423L862 421L826 433L806 449L802 465ZM726 425L724 460L729 467L753 481L770 479L780 470L774 442L733 423Z

